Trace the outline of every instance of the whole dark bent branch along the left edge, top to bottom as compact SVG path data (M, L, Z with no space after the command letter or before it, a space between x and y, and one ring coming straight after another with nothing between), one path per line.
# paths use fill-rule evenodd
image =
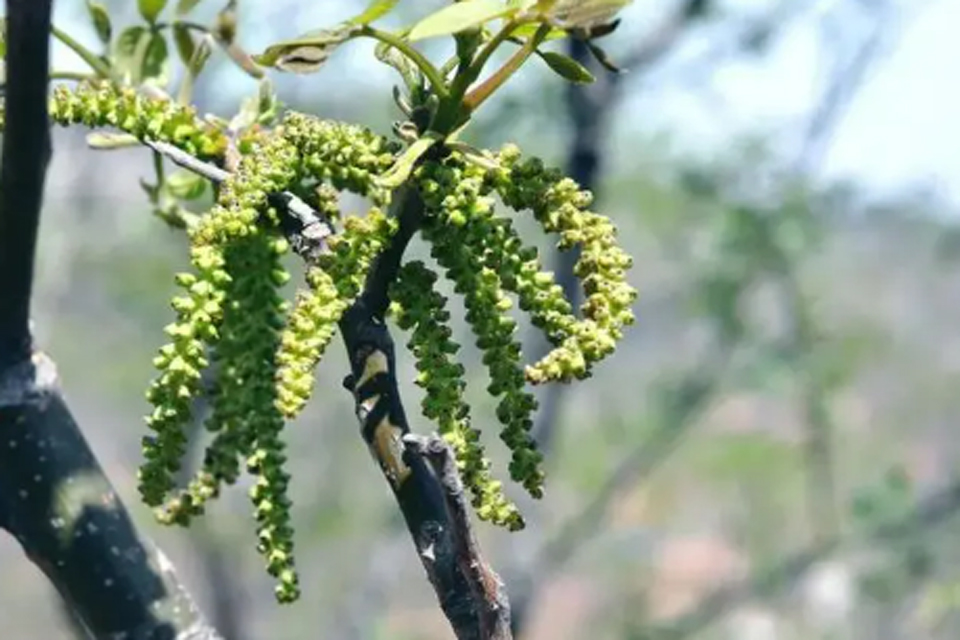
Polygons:
M50 0L8 0L0 170L0 526L92 637L214 640L169 560L134 528L70 414L29 313L43 187Z

